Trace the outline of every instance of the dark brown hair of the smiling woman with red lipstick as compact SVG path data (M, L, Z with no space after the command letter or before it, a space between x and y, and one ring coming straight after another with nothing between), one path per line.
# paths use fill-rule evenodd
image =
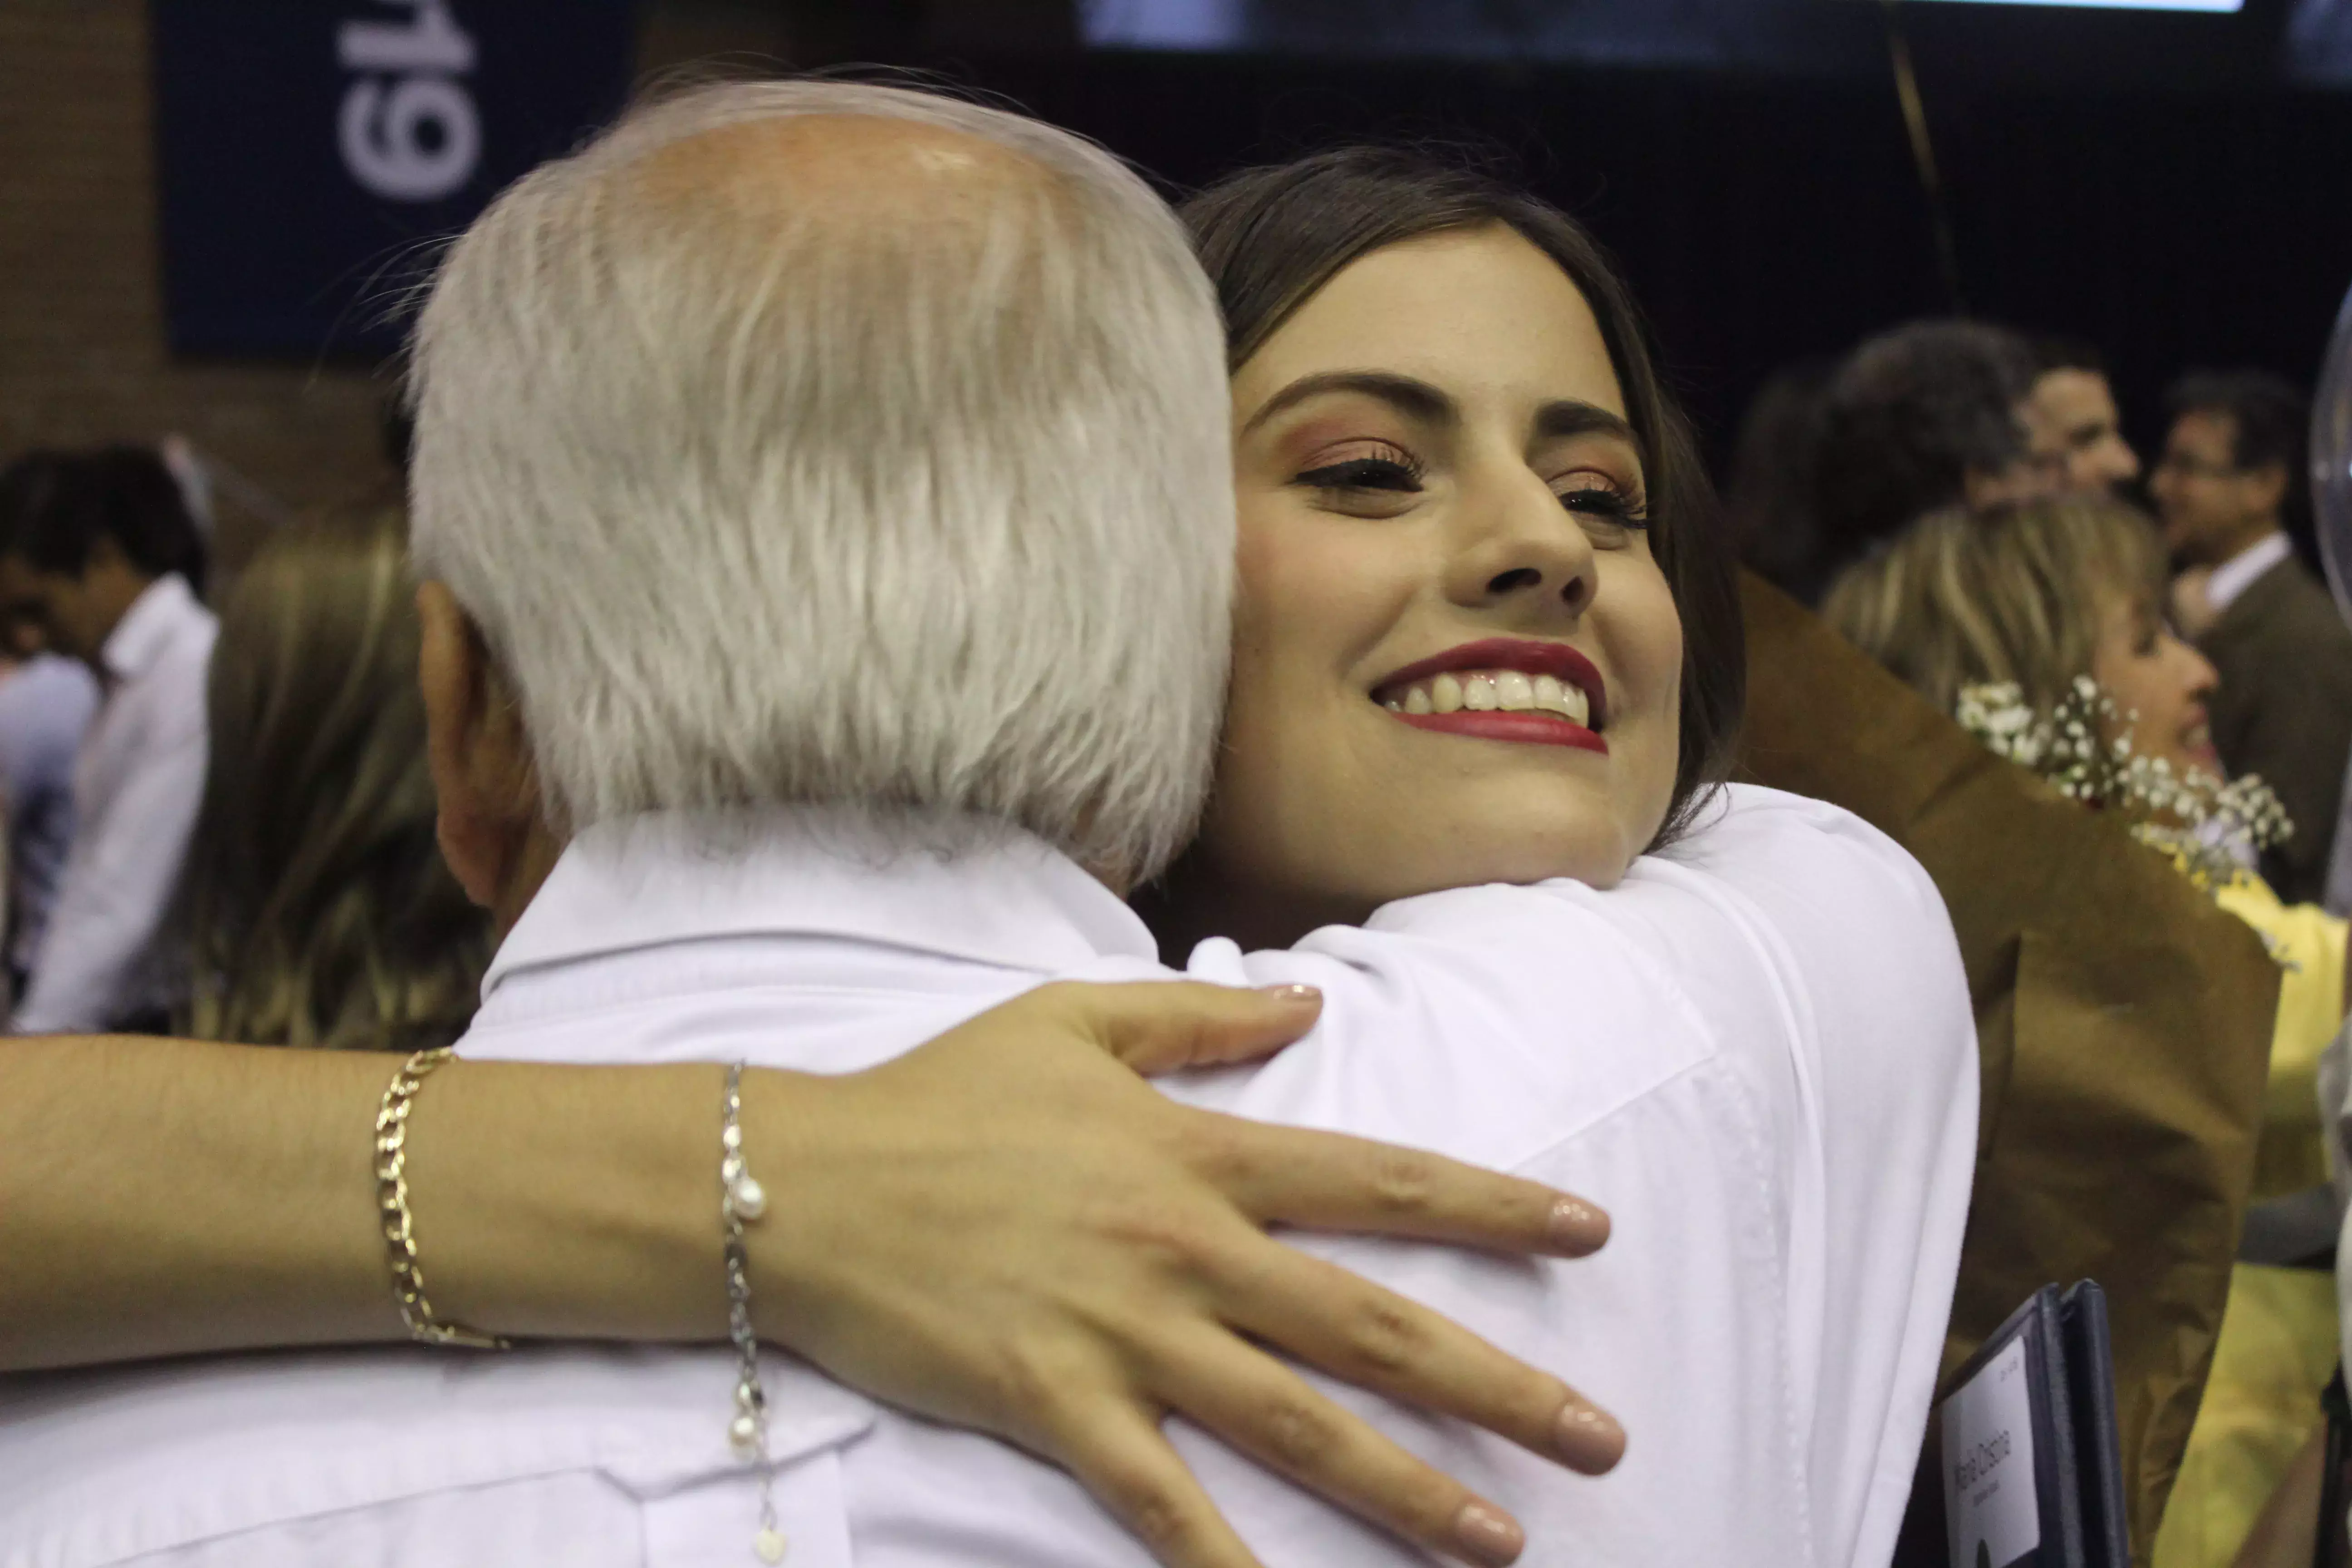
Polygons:
M1649 538L1682 614L1682 752L1653 849L1724 778L1748 698L1738 578L1689 421L1658 376L1632 294L1576 219L1486 174L1404 148L1338 148L1244 169L1181 207L1240 367L1341 268L1376 249L1501 223L1569 275L1599 322L1642 444Z

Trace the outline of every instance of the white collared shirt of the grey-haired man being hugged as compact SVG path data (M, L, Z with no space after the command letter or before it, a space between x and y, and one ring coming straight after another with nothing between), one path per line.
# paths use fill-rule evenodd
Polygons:
M1204 943L1190 971L1303 980L1327 1004L1270 1063L1169 1093L1519 1171L1611 1211L1609 1246L1576 1262L1294 1237L1623 1418L1625 1460L1585 1479L1317 1380L1515 1509L1522 1561L1889 1559L1976 1152L1959 954L1900 849L1832 806L1733 790L1613 891L1435 893L1289 952ZM463 1051L854 1072L1054 976L1164 971L1120 900L1025 835L943 860L835 813L637 818L564 851ZM1150 1561L1075 1481L1004 1443L781 1354L764 1378L793 1566ZM0 1566L750 1566L731 1382L722 1347L19 1378L0 1385ZM1171 1434L1268 1563L1428 1561L1185 1422Z

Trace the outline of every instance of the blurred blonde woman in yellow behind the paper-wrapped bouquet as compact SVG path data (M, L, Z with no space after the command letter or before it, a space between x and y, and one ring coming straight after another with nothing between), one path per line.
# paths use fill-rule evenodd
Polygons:
M2317 1070L2345 1013L2345 922L2249 870L2284 818L2258 780L2223 780L2213 665L2164 618L2154 527L2112 501L1938 512L1851 567L1823 614L1994 752L2129 816L2263 936L2281 978L2253 1201L2324 1187ZM2326 1269L2234 1265L2157 1568L2232 1561L2321 1422L2336 1361Z

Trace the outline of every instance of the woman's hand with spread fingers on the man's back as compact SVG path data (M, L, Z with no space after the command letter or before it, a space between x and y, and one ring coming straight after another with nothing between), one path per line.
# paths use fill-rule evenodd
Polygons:
M1303 990L1065 983L823 1095L750 1074L746 1143L793 1194L753 1234L762 1328L851 1387L1061 1465L1169 1568L1256 1561L1160 1432L1169 1413L1397 1535L1512 1561L1501 1507L1256 1342L1588 1474L1623 1432L1263 1227L1576 1258L1609 1220L1432 1154L1188 1110L1136 1077L1265 1056L1317 1011Z

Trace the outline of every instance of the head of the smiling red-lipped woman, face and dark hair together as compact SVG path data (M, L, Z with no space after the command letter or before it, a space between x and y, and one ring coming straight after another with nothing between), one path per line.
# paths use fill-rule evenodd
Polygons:
M1696 820L1745 689L1712 491L1623 282L1557 209L1402 150L1242 174L1185 219L1230 331L1242 571L1164 947L1616 884Z

